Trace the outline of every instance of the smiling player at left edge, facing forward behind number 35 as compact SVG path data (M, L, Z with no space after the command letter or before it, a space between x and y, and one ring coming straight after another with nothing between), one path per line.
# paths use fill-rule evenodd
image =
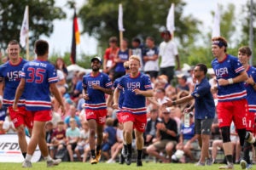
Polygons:
M0 66L0 95L3 95L3 105L8 107L9 115L18 133L20 150L25 158L27 143L24 128L28 127L29 132L32 132L32 115L26 111L24 95L18 102L19 111L14 111L12 105L15 90L20 83L22 67L27 61L20 57L20 45L15 40L9 42L7 52L9 61Z

